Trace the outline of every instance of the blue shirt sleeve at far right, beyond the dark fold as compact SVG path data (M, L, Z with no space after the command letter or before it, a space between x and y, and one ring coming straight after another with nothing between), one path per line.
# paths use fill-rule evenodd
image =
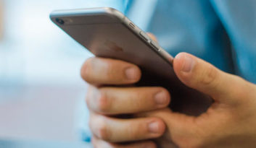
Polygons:
M256 83L256 1L211 2L231 39L236 73Z

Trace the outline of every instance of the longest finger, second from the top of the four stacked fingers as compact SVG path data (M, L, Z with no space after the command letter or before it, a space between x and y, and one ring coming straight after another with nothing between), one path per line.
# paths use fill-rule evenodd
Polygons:
M91 87L86 102L105 115L139 113L167 107L170 94L162 87Z

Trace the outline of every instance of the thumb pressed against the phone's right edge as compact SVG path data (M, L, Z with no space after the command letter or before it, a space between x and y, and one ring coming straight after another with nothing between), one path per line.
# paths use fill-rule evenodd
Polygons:
M183 84L218 101L234 101L248 85L244 79L220 71L189 53L179 53L173 61L173 69Z

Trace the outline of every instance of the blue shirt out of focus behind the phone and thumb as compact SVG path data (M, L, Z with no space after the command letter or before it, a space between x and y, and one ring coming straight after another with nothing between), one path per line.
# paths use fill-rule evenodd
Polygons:
M87 0L90 3L90 0ZM96 1L96 0L94 0ZM98 0L112 6L171 55L192 53L256 83L255 0Z

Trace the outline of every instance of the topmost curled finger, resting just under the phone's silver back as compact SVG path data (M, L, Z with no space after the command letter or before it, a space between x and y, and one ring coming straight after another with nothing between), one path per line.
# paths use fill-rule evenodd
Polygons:
M89 58L81 76L91 84L133 84L141 78L138 66L110 58Z

